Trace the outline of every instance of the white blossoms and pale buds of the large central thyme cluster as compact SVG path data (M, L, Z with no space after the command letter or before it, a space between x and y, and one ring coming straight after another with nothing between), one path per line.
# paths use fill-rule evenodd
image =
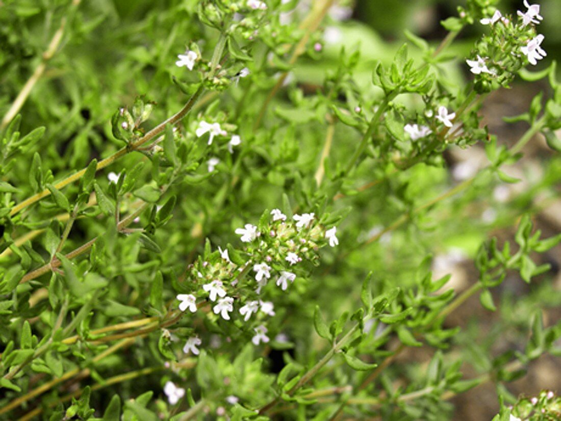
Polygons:
M306 253L310 251L310 247L314 249L318 247L315 241L321 238L327 240L331 247L339 244L339 239L336 235L337 228L333 226L330 229L324 230L319 225L314 224L316 220L314 213L295 214L292 217L293 221L287 221L287 216L279 209L273 209L270 215L272 216L272 223L268 233L269 237L265 237L265 233L261 233L257 226L252 224L245 224L243 228L235 230L235 233L241 236L240 239L243 243L256 247L256 251L253 253L253 261L248 261L243 265L236 265L236 263L232 262L228 249L218 247L219 261L214 260L213 263L210 263L200 260L197 263L199 268L192 271L197 279L197 283L200 283L199 285L204 293L207 294L208 300L214 303L212 307L213 313L219 314L223 320L231 320L234 311L234 297L229 296L228 290L230 286L238 286L243 275L247 272L253 272L253 279L256 282L256 294L261 293L261 290L270 279L275 279L276 285L285 291L296 280L296 273L283 270L282 266L286 268L287 265L292 267L300 263L302 257L307 256ZM256 240L260 237L265 237L265 240L270 242L269 246L263 239L257 243ZM285 244L285 246L277 247L279 244ZM272 249L277 248L278 253L273 253ZM276 257L273 258L272 256ZM203 275L203 272L206 275ZM232 280L232 278L233 281L228 281ZM205 281L201 282L203 279ZM230 293L230 295L233 294ZM197 311L197 300L194 294L177 294L176 298L180 301L180 311L185 312L188 310L191 313ZM237 300L238 298L236 298ZM242 304L238 311L243 317L244 322L249 322L252 314L257 312L261 312L265 316L274 316L275 314L274 304L269 301L251 299ZM260 321L260 318L257 321ZM269 337L266 335L268 330L263 324L253 329L255 335L252 338L252 343L255 345L268 343ZM187 339L185 346L183 346L183 351L199 355L197 346L201 345L201 342L198 336L192 336Z

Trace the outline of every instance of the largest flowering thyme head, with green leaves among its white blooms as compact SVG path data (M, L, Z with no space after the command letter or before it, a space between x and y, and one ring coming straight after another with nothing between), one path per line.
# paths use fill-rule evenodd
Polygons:
M243 320L245 330L254 333L252 342L259 345L269 341L265 318L275 314L274 303L266 298L305 277L303 263L315 263L320 247L337 246L337 228L320 225L313 212L288 218L274 209L264 212L257 225L245 224L235 233L243 249L218 247L211 252L208 244L205 255L188 267L178 307L196 316L197 304L210 302L209 314L222 322ZM190 336L183 351L197 355L200 344L198 336Z

